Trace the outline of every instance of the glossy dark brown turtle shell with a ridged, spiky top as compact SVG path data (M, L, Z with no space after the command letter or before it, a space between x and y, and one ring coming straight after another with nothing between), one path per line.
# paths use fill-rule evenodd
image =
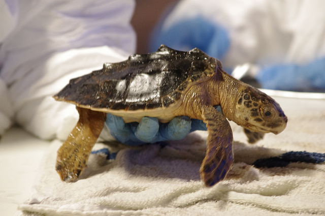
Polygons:
M101 110L169 107L191 84L209 79L217 67L215 58L197 48L183 52L161 45L156 52L131 55L72 79L54 98Z

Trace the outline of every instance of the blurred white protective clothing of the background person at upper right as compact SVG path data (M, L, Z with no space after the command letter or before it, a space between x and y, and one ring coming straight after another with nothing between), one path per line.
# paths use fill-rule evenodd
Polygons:
M223 26L231 41L222 59L226 68L303 64L325 55L323 8L322 0L182 0L162 27L196 16Z

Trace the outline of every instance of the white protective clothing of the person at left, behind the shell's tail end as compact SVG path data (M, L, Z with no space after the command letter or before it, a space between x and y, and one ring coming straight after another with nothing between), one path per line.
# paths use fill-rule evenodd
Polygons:
M129 23L135 3L0 0L0 6L0 122L6 122L0 134L15 120L41 138L64 139L78 114L51 96L69 79L135 52Z

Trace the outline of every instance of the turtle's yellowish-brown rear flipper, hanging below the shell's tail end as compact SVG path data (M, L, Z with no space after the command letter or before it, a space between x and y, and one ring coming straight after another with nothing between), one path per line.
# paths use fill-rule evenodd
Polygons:
M76 180L84 170L90 152L104 128L106 113L76 107L79 121L57 151L55 169L66 182Z

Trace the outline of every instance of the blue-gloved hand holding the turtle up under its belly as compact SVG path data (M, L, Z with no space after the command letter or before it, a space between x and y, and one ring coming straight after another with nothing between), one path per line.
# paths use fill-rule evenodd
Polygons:
M220 106L216 106L215 109L222 113ZM140 123L131 122L125 124L122 117L107 113L105 124L116 140L132 146L167 140L180 140L190 132L207 130L202 120L190 119L188 116L177 116L164 124L153 117L143 117Z

